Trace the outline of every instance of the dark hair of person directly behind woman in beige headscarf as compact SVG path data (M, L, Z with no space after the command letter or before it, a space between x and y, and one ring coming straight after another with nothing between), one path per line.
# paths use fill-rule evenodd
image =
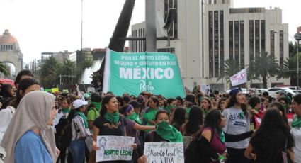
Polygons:
M31 78L22 79L20 81L20 83L18 84L18 89L16 92L16 100L13 101L11 106L13 106L14 108L17 108L21 99L24 96L25 90L28 89L32 85L40 86L40 83L38 81L36 81L35 79L31 79ZM20 91L23 91L23 96L20 94Z

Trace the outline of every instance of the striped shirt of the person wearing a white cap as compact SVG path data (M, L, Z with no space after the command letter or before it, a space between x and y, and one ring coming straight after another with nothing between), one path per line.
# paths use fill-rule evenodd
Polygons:
M84 125L84 119L81 116L75 116L71 123L72 129L72 141L79 138L85 138L90 135L89 131L86 130Z

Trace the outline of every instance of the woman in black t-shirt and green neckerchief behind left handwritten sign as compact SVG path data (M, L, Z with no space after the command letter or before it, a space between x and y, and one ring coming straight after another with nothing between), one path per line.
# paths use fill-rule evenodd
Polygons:
M93 122L93 150L98 150L96 143L98 136L126 136L125 126L127 122L124 116L120 116L118 113L118 107L118 101L114 95L107 95L103 98L101 116ZM110 161L109 163L118 162L125 161Z

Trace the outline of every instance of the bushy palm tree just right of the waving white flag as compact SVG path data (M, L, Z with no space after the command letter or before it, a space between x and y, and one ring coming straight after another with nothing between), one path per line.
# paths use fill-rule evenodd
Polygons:
M263 88L268 87L267 77L273 77L279 74L279 64L274 55L268 55L268 52L262 52L257 55L254 61L254 74L256 77L262 77Z

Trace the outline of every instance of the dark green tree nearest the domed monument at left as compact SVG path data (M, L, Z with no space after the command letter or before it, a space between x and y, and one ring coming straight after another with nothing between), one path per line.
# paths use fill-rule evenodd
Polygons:
M48 88L54 87L58 83L58 77L62 71L62 65L55 57L47 58L41 66L40 79L42 85Z

